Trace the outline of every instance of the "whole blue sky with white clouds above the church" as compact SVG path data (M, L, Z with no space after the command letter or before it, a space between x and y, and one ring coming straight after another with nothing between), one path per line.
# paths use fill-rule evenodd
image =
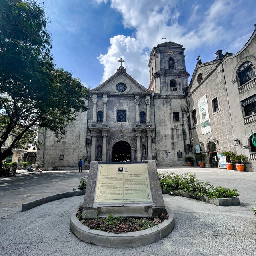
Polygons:
M40 0L51 21L56 66L90 88L124 67L148 88L153 46L173 41L186 48L189 81L197 55L202 62L215 52L238 52L256 23L255 0Z

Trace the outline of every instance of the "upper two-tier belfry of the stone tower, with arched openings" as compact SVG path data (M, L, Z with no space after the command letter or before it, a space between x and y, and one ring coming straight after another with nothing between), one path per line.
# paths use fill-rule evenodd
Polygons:
M150 54L149 90L161 96L182 96L188 86L183 46L174 42L158 44Z

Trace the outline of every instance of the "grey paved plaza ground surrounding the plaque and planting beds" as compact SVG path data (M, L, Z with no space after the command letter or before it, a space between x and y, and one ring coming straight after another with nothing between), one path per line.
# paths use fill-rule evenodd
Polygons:
M0 177L0 255L256 255L256 219L251 211L256 200L256 173L196 167L158 171L194 172L214 186L236 188L240 192L240 206L220 207L163 195L166 206L175 213L175 226L168 236L137 248L106 248L82 242L70 232L70 215L84 196L20 212L22 203L71 191L88 172L22 172L16 177Z

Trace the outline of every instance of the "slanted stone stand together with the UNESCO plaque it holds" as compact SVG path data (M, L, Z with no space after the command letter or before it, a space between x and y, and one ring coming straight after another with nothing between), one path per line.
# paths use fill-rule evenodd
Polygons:
M101 208L113 216L140 216L136 207L147 216L166 213L156 162L91 162L82 218L97 218Z

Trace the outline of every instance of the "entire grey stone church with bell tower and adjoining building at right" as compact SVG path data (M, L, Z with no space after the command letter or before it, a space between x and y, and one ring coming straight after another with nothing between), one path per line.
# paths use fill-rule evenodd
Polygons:
M254 171L255 34L234 55L219 50L206 63L198 56L189 85L180 44L166 42L152 49L148 89L119 60L117 72L90 91L89 110L67 125L62 141L56 142L49 130L40 132L37 160L45 167L77 166L80 158L86 163L157 160L162 166L180 166L186 156L197 163L199 147L206 167L218 167L218 154L232 150L248 156L246 169ZM243 65L247 78L240 82Z

